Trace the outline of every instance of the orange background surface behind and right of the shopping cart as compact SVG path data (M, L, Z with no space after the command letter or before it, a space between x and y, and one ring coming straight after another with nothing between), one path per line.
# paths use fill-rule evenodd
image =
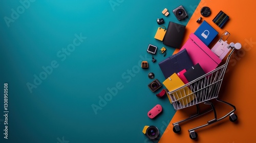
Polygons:
M196 112L196 107L185 108L178 110L174 115L172 121L166 128L159 142L252 142L255 140L255 113L256 96L254 88L255 69L256 69L256 12L255 1L211 1L203 0L200 2L193 16L191 16L187 26L185 38L186 41L190 33L194 33L199 27L197 19L202 17L218 32L218 37L213 41L209 47L214 46L221 34L227 30L231 35L228 38L230 42L240 42L242 49L235 51L230 59L227 73L221 86L219 98L229 102L237 107L236 114L238 115L238 122L232 123L228 117L224 120L214 123L205 128L196 130L198 139L192 140L189 138L188 129L206 124L207 121L214 118L213 112L206 115L194 118L180 124L181 133L173 132L173 123L188 117L190 114ZM209 17L203 17L200 14L202 7L208 6L211 9ZM229 21L220 29L212 19L222 10L229 16ZM179 50L176 50L177 53ZM216 103L217 117L225 115L231 110L229 106ZM200 105L203 108L207 105Z

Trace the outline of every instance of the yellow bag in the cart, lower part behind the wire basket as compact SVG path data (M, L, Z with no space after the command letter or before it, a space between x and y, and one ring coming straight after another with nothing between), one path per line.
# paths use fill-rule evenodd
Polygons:
M176 73L167 78L163 85L169 90L173 91L183 85L185 85L182 80L178 77ZM195 99L195 94L187 87L183 87L172 94L174 100L178 100L183 106L187 105L191 101ZM169 95L167 95L170 103L172 104L172 100Z

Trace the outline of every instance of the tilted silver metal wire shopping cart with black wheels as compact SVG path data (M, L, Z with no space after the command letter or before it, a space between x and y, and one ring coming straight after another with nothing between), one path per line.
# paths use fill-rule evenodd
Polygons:
M167 96L169 96L170 99L172 100L175 110L187 108L187 107L194 106L194 105L196 105L196 107L197 107L197 114L191 115L190 117L188 117L184 120L173 123L173 126L174 126L173 131L175 133L179 133L181 131L181 128L179 126L180 123L188 121L192 118L198 117L198 116L205 114L207 112L210 112L212 110L214 111L214 116L215 116L215 118L213 120L208 121L207 124L204 124L204 125L201 125L201 126L198 126L198 127L188 130L189 137L191 139L196 139L198 137L198 134L195 132L196 129L203 128L212 123L216 123L216 122L224 119L227 116L229 116L229 120L231 122L237 121L238 116L236 114L234 114L234 111L236 111L236 107L228 102L218 99L218 94L220 91L220 87L222 84L223 77L225 75L225 71L226 71L229 59L235 49L239 50L241 48L241 44L240 43L234 44L233 46L230 46L230 48L232 50L230 51L229 55L227 56L225 64L217 67L216 69L210 71L209 73L205 74L204 76L201 76L201 77L197 78L196 80L191 81L191 82L181 86L180 88L177 88L173 91L167 92L168 93ZM214 104L212 104L209 101L211 99L216 99L216 101L218 101L218 102L229 105L233 108L233 110L230 111L229 113L227 113L226 115L224 115L220 118L217 118L217 113L216 113ZM199 103L204 103L204 104L210 105L211 108L209 110L206 110L206 111L200 113Z

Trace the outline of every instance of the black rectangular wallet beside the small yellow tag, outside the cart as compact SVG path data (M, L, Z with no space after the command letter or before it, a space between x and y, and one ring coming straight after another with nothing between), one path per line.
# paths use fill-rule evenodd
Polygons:
M165 33L163 44L180 49L180 44L183 40L186 26L175 22L169 22Z

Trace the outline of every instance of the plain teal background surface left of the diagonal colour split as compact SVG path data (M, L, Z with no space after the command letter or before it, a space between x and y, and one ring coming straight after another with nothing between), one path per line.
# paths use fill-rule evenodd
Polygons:
M116 2L112 8L110 2ZM22 4L0 2L0 113L4 114L4 83L8 83L8 138L4 139L0 116L0 142L157 142L142 134L145 125L157 126L160 136L175 110L166 98L159 99L147 84L150 72L161 82L164 76L158 62L166 57L157 53L156 63L146 52L148 44L161 49L154 39L157 18L186 25L200 1L35 1L8 28L4 17ZM178 21L172 10L183 5L188 18ZM161 12L169 10L165 17ZM57 56L73 43L75 34L87 37L67 58ZM140 68L142 60L150 68ZM58 67L32 93L27 83L34 75L57 61ZM139 68L138 68L139 67ZM129 73L131 70L132 73ZM112 99L94 112L100 97L117 83ZM156 104L163 112L154 120L147 112ZM100 107L100 106L99 106ZM170 140L171 141L171 140Z

